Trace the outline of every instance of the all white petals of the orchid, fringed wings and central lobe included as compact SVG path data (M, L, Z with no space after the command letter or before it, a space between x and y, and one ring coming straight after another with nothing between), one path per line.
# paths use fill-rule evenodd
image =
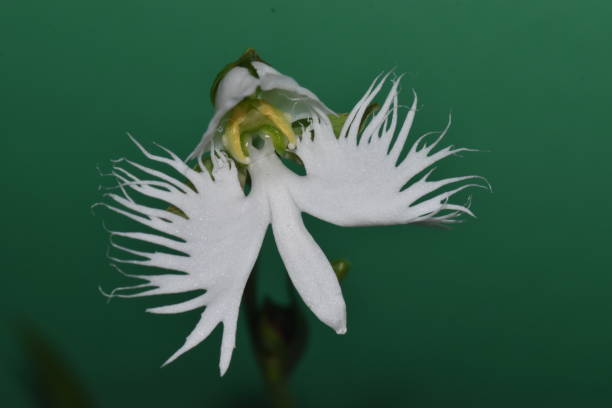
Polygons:
M254 89L256 81L243 74L236 78L239 82L229 84L232 92L228 94L245 95ZM263 78L265 75L257 82L262 89ZM295 83L283 78L282 81ZM235 345L242 293L269 225L289 277L304 303L323 323L343 334L346 307L340 285L325 254L306 230L302 212L340 226L445 224L459 221L457 217L461 214L473 215L467 206L451 204L449 200L461 190L481 186L468 182L480 177L433 181L429 180L432 170L426 172L445 157L470 150L448 146L434 151L448 126L429 145L424 143L430 135L426 134L413 143L407 154L402 154L417 98L415 94L410 110L400 120L399 79L392 81L379 111L362 128L367 107L386 82L387 76L373 82L348 115L338 136L322 105L310 106L316 112L296 136L294 150L304 164L305 176L295 174L283 164L270 139L265 139L259 148L249 145L247 170L252 185L248 194L239 182L235 159L221 150L211 152L210 172L196 171L171 151L162 148L166 155L152 154L134 140L146 158L164 165L169 172L122 160L145 174L147 179L143 179L122 167L114 167L120 193L108 194L113 203L102 205L154 232L111 231L111 238L144 241L172 253L139 251L112 241L114 247L138 259L111 259L172 273L129 274L144 283L117 288L109 296L205 291L182 303L147 310L172 314L205 307L183 346L164 364L195 347L222 323L219 368L221 375L226 372ZM219 112L236 101L234 96L219 100L217 105L224 107ZM200 169L204 169L201 156L196 156ZM172 205L184 216L139 203L128 194L128 189Z

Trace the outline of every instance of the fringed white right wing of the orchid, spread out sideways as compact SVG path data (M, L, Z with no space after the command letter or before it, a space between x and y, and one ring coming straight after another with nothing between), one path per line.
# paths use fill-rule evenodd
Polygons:
M360 130L366 108L380 93L387 76L372 83L349 114L338 138L326 120L313 120L303 133L296 153L304 162L307 175L291 185L297 206L343 226L446 224L457 222L461 214L472 215L466 205L451 204L449 200L467 187L487 188L486 181L485 185L465 184L470 179L484 180L481 177L430 181L431 170L414 181L415 176L445 157L471 150L448 146L433 152L448 126L430 145L422 143L428 135L419 138L400 159L416 113L417 98L415 94L412 107L398 128L399 78L392 81L380 110ZM444 190L451 185L459 187Z

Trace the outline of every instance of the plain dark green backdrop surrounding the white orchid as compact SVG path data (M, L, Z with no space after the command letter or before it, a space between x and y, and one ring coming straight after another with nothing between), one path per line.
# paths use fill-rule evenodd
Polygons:
M348 333L306 313L291 387L303 407L612 404L609 20L603 1L57 1L0 11L0 404L35 407L16 323L58 350L97 406L265 403L243 316L218 377L220 333L174 364L197 312L116 300L96 165L139 158L125 136L183 157L211 117L209 86L247 47L348 111L396 68L419 93L415 132L453 112L448 143L487 152L476 220L452 230L343 229L306 218L352 262ZM268 237L272 295L284 284ZM30 357L31 359L31 357ZM28 368L30 367L30 368Z

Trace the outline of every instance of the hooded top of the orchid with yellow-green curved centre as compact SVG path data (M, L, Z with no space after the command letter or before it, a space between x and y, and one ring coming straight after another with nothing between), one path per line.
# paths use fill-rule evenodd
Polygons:
M253 49L219 73L211 96L215 113L187 160L204 153L219 135L234 160L248 164L248 148L241 143L241 135L268 123L276 147L286 142L293 149L296 136L291 122L334 114L314 93L264 63Z

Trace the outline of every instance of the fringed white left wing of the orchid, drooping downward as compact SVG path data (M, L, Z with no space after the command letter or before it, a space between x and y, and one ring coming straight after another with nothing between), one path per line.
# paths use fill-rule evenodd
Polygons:
M132 172L115 167L121 194L108 194L113 203L103 203L112 211L151 228L152 232L111 231L111 245L136 258L111 258L117 263L137 264L167 269L176 274L127 275L146 281L131 287L118 288L110 296L138 297L206 291L175 305L149 309L151 313L182 313L206 306L185 344L165 364L203 341L219 324L223 324L220 370L225 373L235 343L236 321L242 292L255 263L269 223L267 203L245 197L233 162L213 152L214 169L196 172L176 155L157 156L134 143L145 156L169 166L175 176L128 160L151 180L143 180ZM204 168L200 164L200 168ZM179 179L185 178L187 182ZM157 199L162 208L173 205L186 216L165 209L137 203L127 191ZM128 238L157 245L169 252L143 252L115 242L113 237Z

